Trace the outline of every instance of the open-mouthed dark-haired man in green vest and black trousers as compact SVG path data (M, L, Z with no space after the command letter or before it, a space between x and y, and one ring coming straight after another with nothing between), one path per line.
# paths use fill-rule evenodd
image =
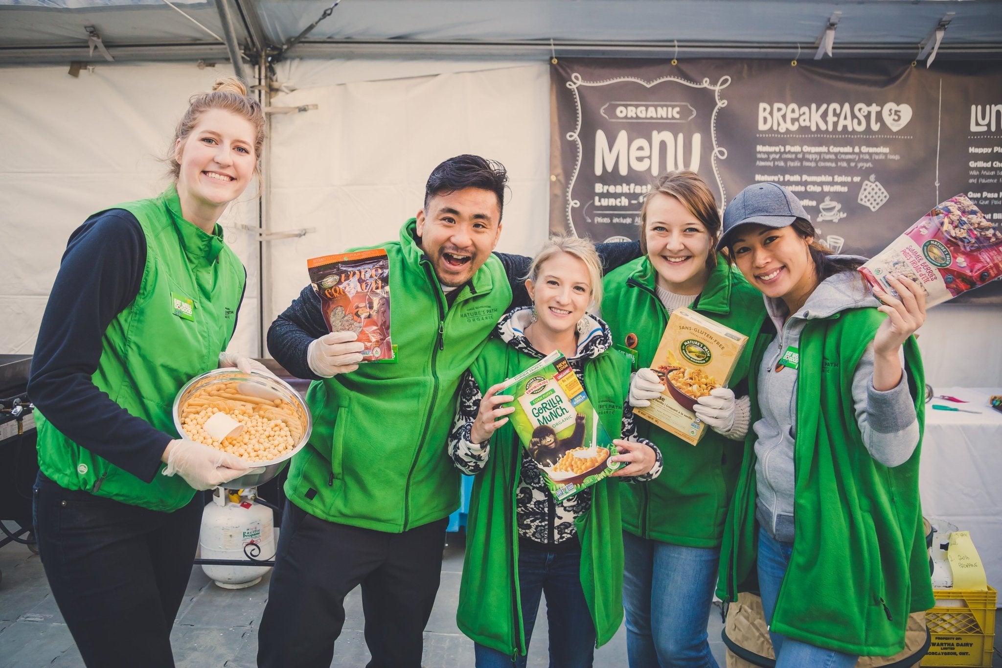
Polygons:
M450 158L432 171L424 207L399 240L373 246L390 262L394 362L359 365L362 344L327 333L309 285L272 324L271 354L314 380L314 428L285 487L263 668L330 666L345 596L360 584L369 666L421 665L448 516L459 507L445 444L460 378L509 304L527 302L529 258L492 253L506 181L496 162ZM639 251L600 249L614 265Z

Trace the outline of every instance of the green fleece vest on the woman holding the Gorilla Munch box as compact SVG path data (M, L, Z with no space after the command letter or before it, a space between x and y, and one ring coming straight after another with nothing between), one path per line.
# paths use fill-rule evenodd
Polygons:
M492 338L470 369L481 393L539 362ZM585 363L584 388L602 426L614 439L622 428L629 392L629 363L608 351ZM524 452L511 423L490 441L490 457L477 474L466 524L466 555L456 624L481 645L512 657L526 653L518 588L518 528L515 490ZM622 623L623 544L617 488L606 478L591 488L591 509L577 518L581 542L581 587L600 647Z

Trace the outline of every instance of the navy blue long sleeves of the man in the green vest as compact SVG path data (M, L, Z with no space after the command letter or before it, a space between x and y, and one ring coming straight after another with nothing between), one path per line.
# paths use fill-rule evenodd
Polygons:
M603 272L640 256L639 241L596 243L595 248L602 261ZM504 252L495 252L494 255L504 265L505 274L511 284L511 306L530 305L532 299L529 298L529 291L525 287L525 275L529 272L532 258ZM455 290L452 294L458 292ZM322 379L310 369L307 349L315 339L327 333L320 297L313 286L307 285L300 292L300 296L294 299L268 328L268 351L296 378L319 381Z

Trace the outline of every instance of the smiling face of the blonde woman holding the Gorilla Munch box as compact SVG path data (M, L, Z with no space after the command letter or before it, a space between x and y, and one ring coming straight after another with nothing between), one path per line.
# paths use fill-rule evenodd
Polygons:
M536 306L536 326L553 336L573 330L591 302L591 274L583 260L559 251L539 265L537 279L525 281Z

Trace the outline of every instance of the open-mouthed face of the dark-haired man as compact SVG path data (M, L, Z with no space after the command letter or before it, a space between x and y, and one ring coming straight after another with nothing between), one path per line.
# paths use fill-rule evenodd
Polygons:
M439 282L449 287L469 280L501 236L497 195L481 188L434 195L417 218L421 247Z

